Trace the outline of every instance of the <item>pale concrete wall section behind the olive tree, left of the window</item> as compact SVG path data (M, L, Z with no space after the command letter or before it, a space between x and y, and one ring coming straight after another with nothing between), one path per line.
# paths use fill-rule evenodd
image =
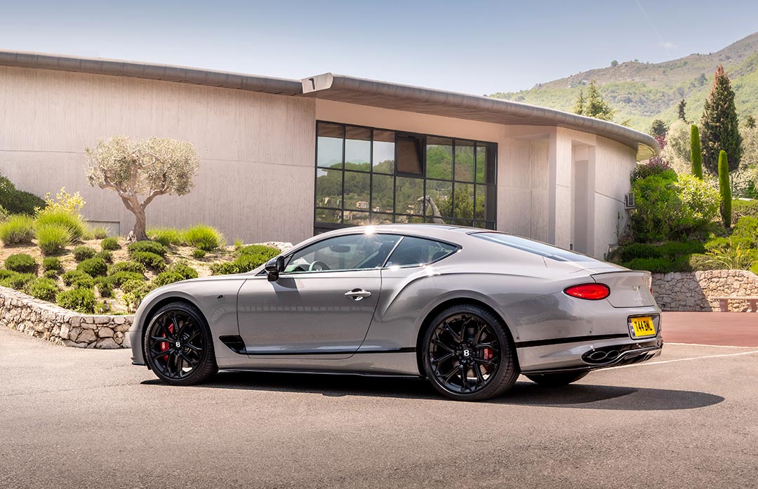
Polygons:
M186 140L202 160L191 193L149 205L149 226L204 222L246 242L312 236L312 99L0 67L0 173L39 196L79 190L87 218L127 234L121 199L84 177L84 148L120 134Z

